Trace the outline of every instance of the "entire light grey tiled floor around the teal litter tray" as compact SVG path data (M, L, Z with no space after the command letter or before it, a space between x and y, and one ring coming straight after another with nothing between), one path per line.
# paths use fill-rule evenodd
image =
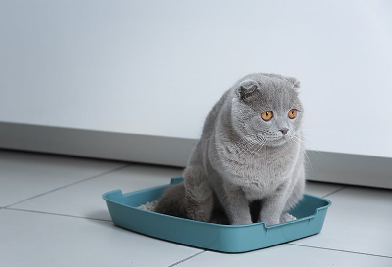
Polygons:
M169 183L181 169L0 150L0 266L392 266L392 190L308 182L332 201L314 236L247 253L116 227L103 193Z

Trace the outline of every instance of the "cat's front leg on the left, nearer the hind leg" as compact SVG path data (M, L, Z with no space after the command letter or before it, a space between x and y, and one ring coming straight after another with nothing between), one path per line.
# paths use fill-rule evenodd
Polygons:
M250 216L249 201L240 187L225 186L221 192L217 192L217 196L229 218L230 224L253 223Z

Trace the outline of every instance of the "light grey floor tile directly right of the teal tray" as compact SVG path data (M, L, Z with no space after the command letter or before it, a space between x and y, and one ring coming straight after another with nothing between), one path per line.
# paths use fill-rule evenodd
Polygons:
M293 244L392 257L392 190L347 187L328 199L321 233Z

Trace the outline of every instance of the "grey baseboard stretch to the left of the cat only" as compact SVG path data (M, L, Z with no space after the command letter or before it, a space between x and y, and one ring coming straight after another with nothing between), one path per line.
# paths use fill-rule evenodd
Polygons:
M0 122L0 147L183 167L197 140Z

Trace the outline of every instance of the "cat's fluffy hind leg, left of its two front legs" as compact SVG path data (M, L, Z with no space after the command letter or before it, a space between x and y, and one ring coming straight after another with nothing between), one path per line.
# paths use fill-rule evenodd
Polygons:
M213 210L213 195L201 166L188 166L184 170L185 210L187 217L208 222Z

